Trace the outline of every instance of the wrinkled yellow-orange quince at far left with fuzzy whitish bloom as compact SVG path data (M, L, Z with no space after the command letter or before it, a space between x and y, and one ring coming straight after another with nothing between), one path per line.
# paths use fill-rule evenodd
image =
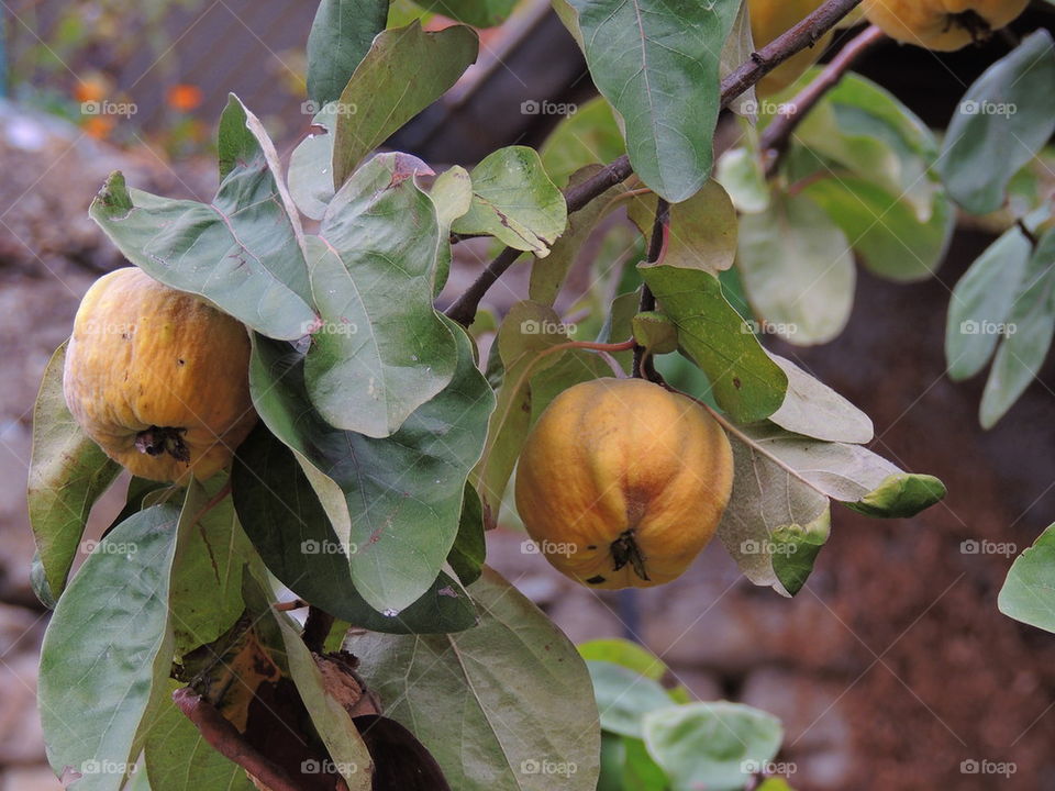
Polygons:
M131 267L85 294L63 391L85 433L134 475L204 480L256 423L248 363L240 322Z

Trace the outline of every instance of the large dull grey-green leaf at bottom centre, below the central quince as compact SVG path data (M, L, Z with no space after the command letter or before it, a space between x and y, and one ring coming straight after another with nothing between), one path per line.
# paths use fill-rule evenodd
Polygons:
M386 715L421 739L451 788L595 791L598 712L575 647L495 571L469 592L480 605L476 628L349 638Z

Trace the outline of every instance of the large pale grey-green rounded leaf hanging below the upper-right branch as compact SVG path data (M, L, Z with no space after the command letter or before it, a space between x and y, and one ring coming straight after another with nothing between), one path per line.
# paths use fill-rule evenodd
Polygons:
M828 343L846 326L857 272L849 243L812 200L774 194L740 225L737 268L755 313L785 341Z

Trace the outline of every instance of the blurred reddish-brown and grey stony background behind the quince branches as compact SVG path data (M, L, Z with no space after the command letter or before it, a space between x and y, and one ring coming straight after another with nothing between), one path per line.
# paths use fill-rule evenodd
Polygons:
M33 704L46 620L27 584L23 493L36 383L79 296L115 263L84 219L106 174L120 165L135 174L130 181L185 194L208 179L74 145L57 129L29 151L23 121L0 112L0 789L43 791L58 784L42 766ZM782 759L800 791L1055 789L1055 636L997 611L1010 557L962 552L968 538L1021 550L1055 514L1052 367L989 433L977 426L980 382L943 376L948 289L982 244L958 238L939 279L922 285L863 274L839 341L777 349L868 412L876 448L940 476L947 500L890 522L837 509L818 569L793 600L752 587L719 546L681 580L636 598L638 637L700 698L781 717ZM492 534L490 562L573 639L624 634L626 599L571 587L523 554L521 538ZM967 764L965 773L964 761L1010 761L1014 772L970 773Z

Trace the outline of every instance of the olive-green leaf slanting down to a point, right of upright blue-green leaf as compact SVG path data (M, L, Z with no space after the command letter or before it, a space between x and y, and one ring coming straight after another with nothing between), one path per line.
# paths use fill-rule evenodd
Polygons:
M425 33L415 20L380 33L337 100L334 183L453 86L476 60L476 33L452 25Z

